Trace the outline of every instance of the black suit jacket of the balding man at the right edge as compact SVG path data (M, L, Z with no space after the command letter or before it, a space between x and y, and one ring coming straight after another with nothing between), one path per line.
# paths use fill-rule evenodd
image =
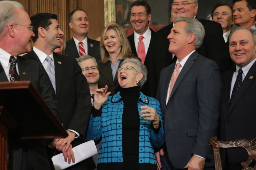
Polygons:
M222 75L223 90L219 122L219 139L222 141L256 137L256 62L242 81L229 106L231 81L234 72L235 69L231 69ZM221 151L222 158L225 158L227 152L229 162L241 163L241 161L248 158L248 154L243 148L222 149Z

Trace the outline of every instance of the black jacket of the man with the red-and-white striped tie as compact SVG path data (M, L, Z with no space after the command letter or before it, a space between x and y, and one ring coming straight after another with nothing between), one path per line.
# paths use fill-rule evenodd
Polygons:
M87 37L87 44L88 44L87 55L94 57L96 61L100 60L100 41L92 40ZM66 41L65 54L67 56L73 56L74 58L79 58L79 53L73 38Z

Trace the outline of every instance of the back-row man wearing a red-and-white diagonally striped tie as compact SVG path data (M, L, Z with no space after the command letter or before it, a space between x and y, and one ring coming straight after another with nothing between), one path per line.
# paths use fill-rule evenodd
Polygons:
M82 9L76 9L69 15L69 27L73 32L73 38L66 42L65 54L74 58L82 55L90 55L100 60L100 42L88 38L89 21L87 13ZM82 44L84 52L79 52L79 44Z

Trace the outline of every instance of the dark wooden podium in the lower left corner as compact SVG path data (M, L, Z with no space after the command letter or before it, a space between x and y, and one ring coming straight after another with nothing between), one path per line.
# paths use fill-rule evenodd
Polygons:
M0 169L7 170L8 138L65 138L68 134L30 81L0 83Z

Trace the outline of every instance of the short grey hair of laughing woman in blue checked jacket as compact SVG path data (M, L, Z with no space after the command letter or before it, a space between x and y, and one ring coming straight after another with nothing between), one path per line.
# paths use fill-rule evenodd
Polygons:
M141 62L139 61L138 59L136 58L126 58L120 65L120 67L123 66L124 63L133 63L136 65L136 70L138 73L142 73L143 74L143 77L142 79L139 81L138 83L138 86L141 88L144 83L146 82L146 79L147 79L147 75L148 75L148 70L146 69L146 66Z

